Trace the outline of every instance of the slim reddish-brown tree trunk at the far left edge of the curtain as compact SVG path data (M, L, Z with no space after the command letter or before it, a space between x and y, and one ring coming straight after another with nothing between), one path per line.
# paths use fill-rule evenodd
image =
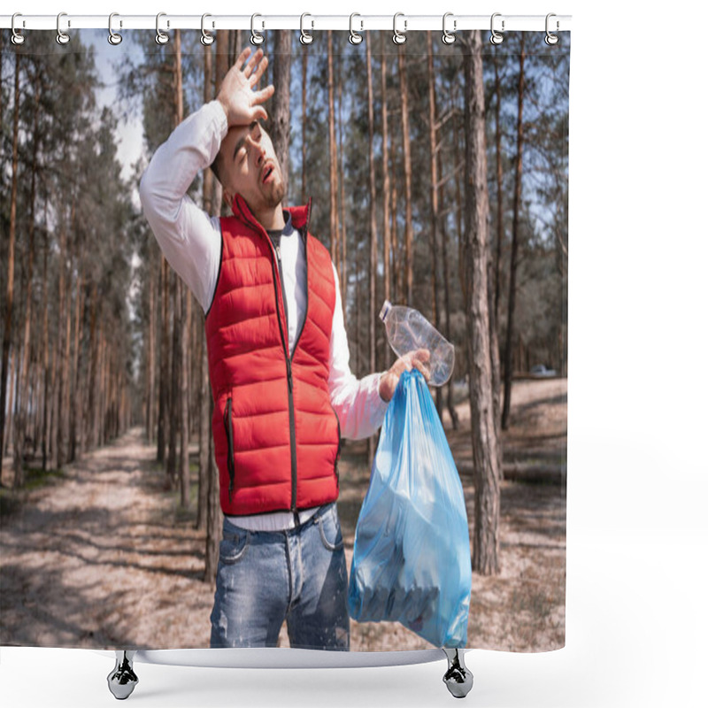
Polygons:
M3 329L3 370L0 375L0 448L5 432L5 404L7 399L7 365L12 341L12 298L15 290L15 234L17 231L17 182L19 143L19 53L15 54L15 91L12 112L12 187L10 189L10 234L7 249L7 289L5 290L5 320ZM12 411L10 412L12 415Z

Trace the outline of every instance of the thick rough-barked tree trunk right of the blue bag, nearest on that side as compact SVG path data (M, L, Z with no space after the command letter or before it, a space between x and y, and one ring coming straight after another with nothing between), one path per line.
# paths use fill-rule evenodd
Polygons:
M487 261L489 195L484 134L484 83L481 33L466 34L465 70L465 196L466 196L466 319L469 332L469 388L474 463L473 570L499 572L499 470L494 423Z

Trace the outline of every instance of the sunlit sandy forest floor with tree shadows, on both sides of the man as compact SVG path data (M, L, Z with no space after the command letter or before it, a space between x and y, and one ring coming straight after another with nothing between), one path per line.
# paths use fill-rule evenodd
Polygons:
M469 407L450 449L472 522ZM515 381L504 432L500 573L473 573L467 646L543 651L565 643L565 379ZM196 458L196 450L194 450ZM142 430L42 474L12 493L12 460L0 489L0 644L96 649L209 645L213 587L204 582L204 532L196 512L165 491ZM342 450L338 504L348 566L369 470L366 443ZM195 473L196 477L196 473ZM196 492L196 485L193 485ZM193 504L193 507L195 504ZM287 645L281 631L281 645ZM352 650L424 649L398 624L352 621Z

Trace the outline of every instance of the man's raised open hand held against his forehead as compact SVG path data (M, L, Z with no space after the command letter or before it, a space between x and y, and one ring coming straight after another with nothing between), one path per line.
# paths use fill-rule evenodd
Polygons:
M260 91L253 90L266 71L268 58L263 56L263 50L258 50L249 57L250 47L241 52L235 65L228 70L224 81L221 82L219 96L216 97L227 114L228 127L248 126L254 120L268 118L266 109L261 104L273 96L273 84Z

